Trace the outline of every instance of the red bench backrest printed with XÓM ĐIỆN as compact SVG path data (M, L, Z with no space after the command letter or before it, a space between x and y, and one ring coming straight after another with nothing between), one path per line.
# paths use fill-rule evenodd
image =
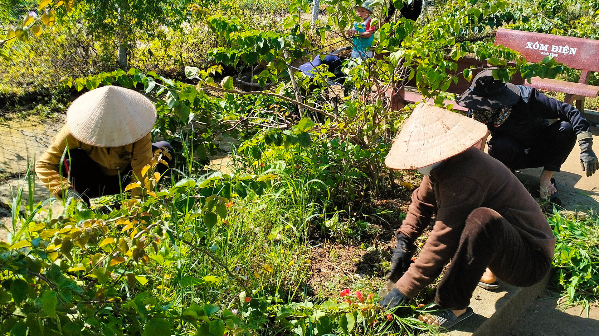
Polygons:
M553 56L572 69L599 71L599 41L521 30L497 29L495 45L518 51L528 62L540 62Z

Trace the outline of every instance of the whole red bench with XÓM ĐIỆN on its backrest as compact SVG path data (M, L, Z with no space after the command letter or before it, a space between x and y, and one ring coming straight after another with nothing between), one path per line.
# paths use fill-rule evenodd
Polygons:
M599 95L599 87L588 85L590 72L599 71L599 41L595 39L500 28L495 35L495 44L518 51L529 62L536 63L546 56L553 56L556 62L582 71L578 83L533 77L531 83L525 81L524 85L565 93L564 102L574 105L576 100L575 106L580 112L584 112L585 97Z

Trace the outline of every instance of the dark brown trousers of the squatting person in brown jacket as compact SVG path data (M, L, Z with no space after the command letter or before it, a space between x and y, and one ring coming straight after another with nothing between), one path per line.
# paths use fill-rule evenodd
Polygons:
M486 267L509 285L529 287L547 276L551 259L495 210L479 207L466 219L458 251L439 283L435 303L443 308L468 307Z

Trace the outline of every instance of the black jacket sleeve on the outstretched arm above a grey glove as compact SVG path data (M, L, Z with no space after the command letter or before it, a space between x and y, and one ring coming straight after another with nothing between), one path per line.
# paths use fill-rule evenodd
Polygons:
M521 90L522 93L529 90ZM528 113L542 119L559 119L572 124L574 133L589 132L591 124L574 106L545 96L536 88L530 88L527 102Z

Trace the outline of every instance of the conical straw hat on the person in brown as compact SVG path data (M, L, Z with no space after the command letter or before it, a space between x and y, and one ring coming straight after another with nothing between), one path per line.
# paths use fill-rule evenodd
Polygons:
M385 158L391 169L418 169L470 148L487 132L464 115L420 103L407 119Z

